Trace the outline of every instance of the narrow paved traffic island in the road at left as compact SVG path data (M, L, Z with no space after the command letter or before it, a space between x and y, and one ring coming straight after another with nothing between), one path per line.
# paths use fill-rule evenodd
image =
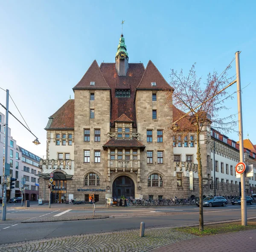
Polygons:
M31 219L21 221L21 223L34 223L34 222L52 222L52 221L79 221L79 220L93 220L93 219L106 219L106 215L61 215L61 216L42 216L33 217Z

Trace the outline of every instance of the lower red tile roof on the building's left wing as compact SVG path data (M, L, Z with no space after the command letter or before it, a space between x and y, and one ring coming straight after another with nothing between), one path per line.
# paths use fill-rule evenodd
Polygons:
M45 129L74 129L74 109L75 100L68 100L49 117Z

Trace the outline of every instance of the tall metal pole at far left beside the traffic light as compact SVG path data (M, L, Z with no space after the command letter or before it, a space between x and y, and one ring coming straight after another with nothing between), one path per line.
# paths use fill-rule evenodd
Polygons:
M5 148L4 148L4 180L6 182L7 175L10 176L10 169L7 172L8 166L8 118L9 118L9 89L6 89L6 122L5 122ZM9 174L8 174L9 173ZM2 204L2 221L6 220L6 183L3 183L3 204Z

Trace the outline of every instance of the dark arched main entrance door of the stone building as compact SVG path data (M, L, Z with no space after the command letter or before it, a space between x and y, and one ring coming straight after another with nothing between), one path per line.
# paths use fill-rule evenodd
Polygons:
M135 186L133 180L127 176L116 178L113 182L112 192L113 197L121 198L124 195L125 198L134 198Z

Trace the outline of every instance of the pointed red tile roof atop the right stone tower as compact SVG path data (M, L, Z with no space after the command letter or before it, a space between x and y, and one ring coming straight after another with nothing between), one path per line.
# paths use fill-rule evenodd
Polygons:
M156 86L152 86L151 82L155 82ZM163 75L158 71L157 67L151 60L148 61L148 65L145 69L140 84L137 89L143 90L171 90L172 87L164 79Z

